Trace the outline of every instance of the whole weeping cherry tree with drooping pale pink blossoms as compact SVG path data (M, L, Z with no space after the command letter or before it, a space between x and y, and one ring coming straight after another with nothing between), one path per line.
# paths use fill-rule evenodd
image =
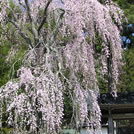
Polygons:
M95 133L101 118L96 72L107 77L109 92L116 96L123 12L106 0L0 4L2 32L11 24L19 39L14 45L27 47L17 77L1 87L1 120L5 115L17 134L59 133L65 98L72 102L72 125L78 129L86 123Z

